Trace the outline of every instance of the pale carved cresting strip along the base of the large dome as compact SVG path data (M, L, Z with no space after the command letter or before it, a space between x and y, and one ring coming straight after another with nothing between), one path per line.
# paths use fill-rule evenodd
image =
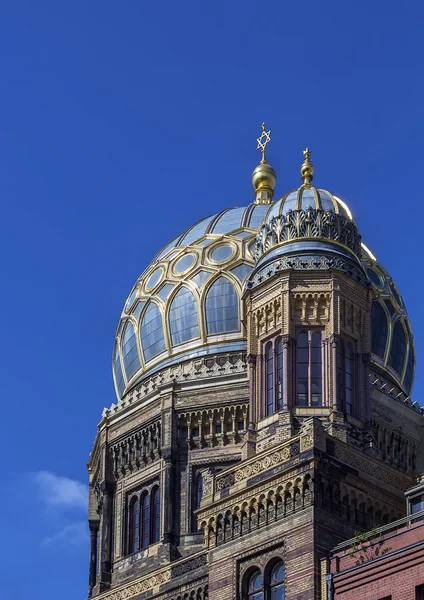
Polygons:
M147 399L166 384L184 383L225 378L229 375L247 374L247 355L245 352L234 352L204 356L192 361L182 362L162 369L158 373L146 377L139 385L128 392L117 404L104 408L102 418L113 417L137 402Z

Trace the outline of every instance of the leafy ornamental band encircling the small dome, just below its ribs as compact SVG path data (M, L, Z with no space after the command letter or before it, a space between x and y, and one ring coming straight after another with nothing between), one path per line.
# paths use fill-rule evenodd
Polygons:
M256 236L255 259L274 246L308 238L336 242L358 258L362 255L361 235L353 221L332 211L308 208L291 210L262 225Z

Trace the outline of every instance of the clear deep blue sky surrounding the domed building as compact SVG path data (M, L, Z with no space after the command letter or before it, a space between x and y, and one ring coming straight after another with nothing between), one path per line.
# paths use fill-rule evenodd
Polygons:
M0 1L0 564L5 600L87 590L86 468L138 275L191 223L277 194L344 199L407 304L421 404L424 4Z

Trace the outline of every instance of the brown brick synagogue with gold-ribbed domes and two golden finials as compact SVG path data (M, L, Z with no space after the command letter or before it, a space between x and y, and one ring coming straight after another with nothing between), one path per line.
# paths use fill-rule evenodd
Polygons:
M326 549L402 516L424 469L402 297L309 149L273 201L270 139L254 202L176 236L125 302L88 462L89 596L294 598L301 579L316 598Z

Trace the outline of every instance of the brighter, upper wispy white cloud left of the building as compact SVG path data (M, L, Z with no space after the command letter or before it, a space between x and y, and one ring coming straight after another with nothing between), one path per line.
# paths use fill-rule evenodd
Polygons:
M38 486L40 498L47 506L87 511L88 486L84 483L50 471L37 471L33 473L33 479Z

